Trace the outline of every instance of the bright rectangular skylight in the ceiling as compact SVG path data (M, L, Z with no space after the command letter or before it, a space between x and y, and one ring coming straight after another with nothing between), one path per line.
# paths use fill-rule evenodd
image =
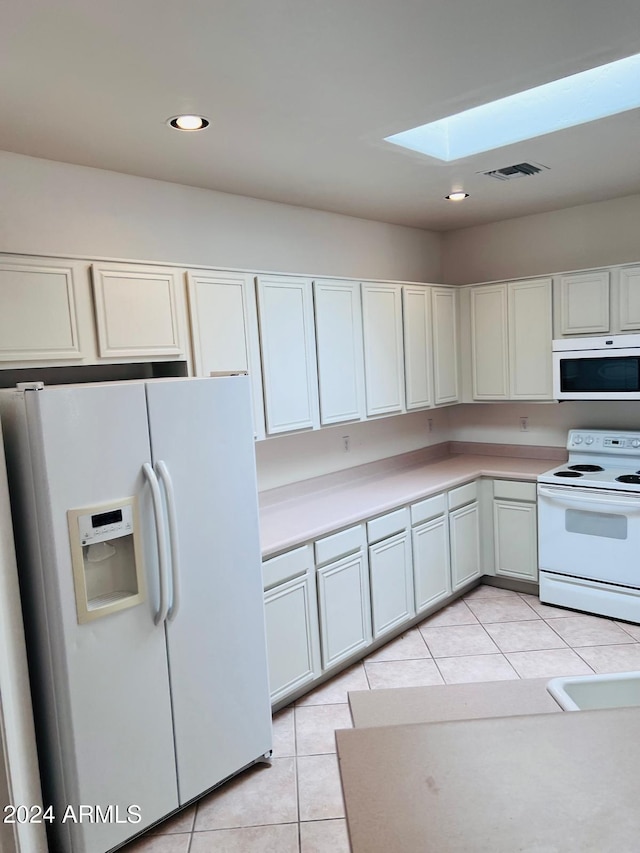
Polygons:
M640 54L432 121L386 142L459 160L640 107Z

